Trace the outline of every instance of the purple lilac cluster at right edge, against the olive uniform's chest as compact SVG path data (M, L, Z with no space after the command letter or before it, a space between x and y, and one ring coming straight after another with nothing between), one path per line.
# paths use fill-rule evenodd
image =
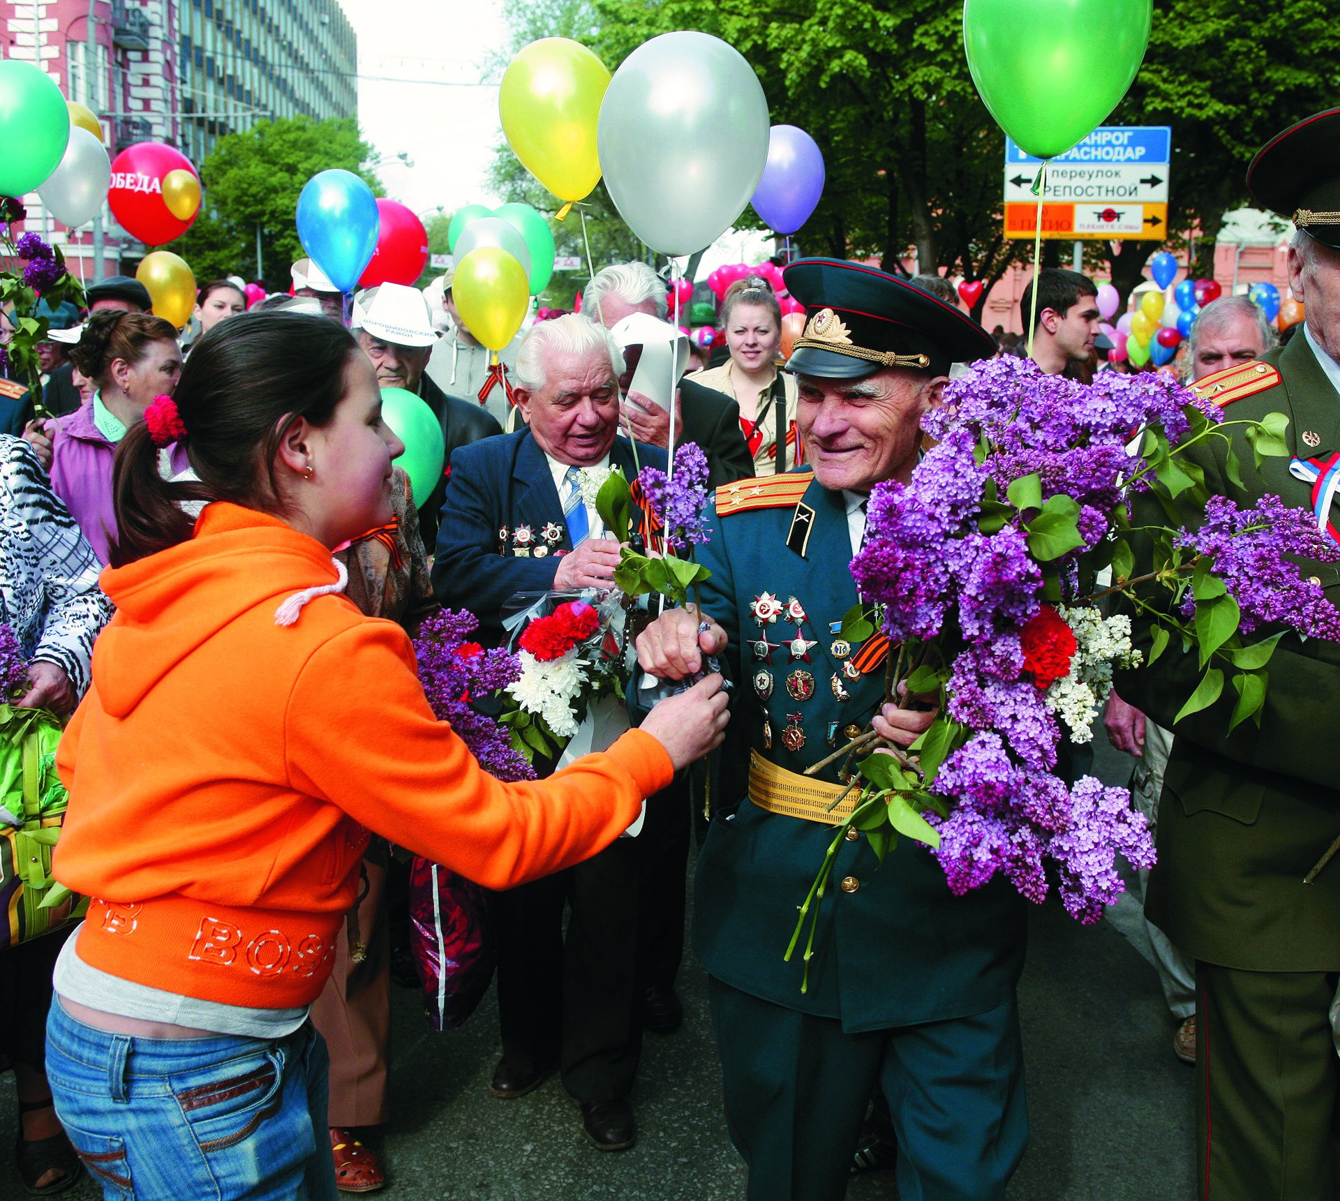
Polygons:
M1284 625L1308 638L1340 641L1340 611L1327 600L1320 583L1302 579L1285 555L1320 563L1340 563L1340 546L1324 535L1306 509L1290 508L1278 496L1264 496L1253 508L1238 508L1211 496L1205 524L1178 535L1178 546L1210 559L1242 611L1240 629ZM1183 615L1195 600L1187 591Z

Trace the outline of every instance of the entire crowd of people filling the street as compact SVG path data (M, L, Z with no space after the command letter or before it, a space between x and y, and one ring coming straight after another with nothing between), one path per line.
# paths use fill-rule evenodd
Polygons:
M1304 335L1280 349L1227 296L1182 357L1218 403L1288 406L1309 461L1340 429L1340 200L1321 202L1340 178L1316 178L1313 141L1340 142L1337 126L1282 135L1249 178L1285 216L1309 205L1289 251ZM804 993L780 950L831 839L829 749L866 722L907 747L933 716L886 702L840 637L866 497L909 479L921 418L963 365L1017 347L939 276L803 259L784 277L805 311L789 358L772 286L740 279L720 361L666 403L636 386L655 339L678 338L643 263L598 271L582 314L535 322L501 382L450 277L445 331L397 284L355 295L346 327L310 260L252 311L233 280L201 288L186 347L126 277L91 287L86 314L48 314L47 416L25 389L3 397L0 599L31 659L15 705L72 714L55 874L91 899L80 924L3 952L29 1192L82 1170L107 1197L381 1188L368 1133L391 1118L390 983L413 972L397 847L490 890L493 1095L556 1072L595 1147L632 1146L643 1036L683 1020L697 831L693 949L752 1201L836 1201L852 1172L884 1167L907 1198L1004 1198L1028 1142L1021 898L1002 882L951 897L909 844L876 871L852 830ZM1096 296L1072 271L1029 284L1043 373L1120 369L1101 358ZM441 424L426 496L394 462L389 387ZM712 575L635 641L641 672L685 686L620 709L539 780L500 783L434 718L411 638L445 606L503 646L519 595L614 587L590 473L632 479L686 442L717 489ZM1290 654L1313 692L1329 680L1333 647ZM1136 760L1135 803L1172 832L1110 920L1158 970L1174 1051L1201 1072L1202 1188L1324 1201L1333 894L1297 894L1292 874L1333 834L1325 740L1174 737L1175 681L1120 688L1104 724ZM1281 684L1277 704L1305 704L1300 689ZM1253 846L1244 831L1266 826ZM1197 848L1214 839L1207 866Z

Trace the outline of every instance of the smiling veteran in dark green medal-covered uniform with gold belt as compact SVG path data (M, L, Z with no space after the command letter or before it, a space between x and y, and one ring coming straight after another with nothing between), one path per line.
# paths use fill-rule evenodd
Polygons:
M903 840L880 867L854 831L820 903L808 991L800 954L783 960L847 811L828 811L839 764L801 772L872 716L904 745L930 721L879 716L887 643L840 637L867 493L910 476L950 363L996 346L954 306L859 263L800 260L785 280L807 311L787 367L811 466L718 488L698 556L710 625L699 634L697 615L673 611L638 639L655 676L681 678L710 651L737 682L725 759L741 771L718 788L694 899L730 1133L753 1201L836 1201L878 1083L903 1201L1002 1198L1028 1139L1018 895L997 883L954 897L923 846Z

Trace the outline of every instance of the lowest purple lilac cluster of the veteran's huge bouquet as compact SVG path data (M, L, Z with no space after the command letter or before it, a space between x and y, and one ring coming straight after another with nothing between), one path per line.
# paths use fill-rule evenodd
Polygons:
M1084 776L1067 789L1053 775L1017 767L997 735L978 733L955 751L935 791L954 800L947 818L927 812L926 819L938 828L934 855L957 895L1001 873L1041 902L1051 861L1067 911L1091 925L1122 891L1118 854L1134 867L1154 866L1150 831L1124 788Z

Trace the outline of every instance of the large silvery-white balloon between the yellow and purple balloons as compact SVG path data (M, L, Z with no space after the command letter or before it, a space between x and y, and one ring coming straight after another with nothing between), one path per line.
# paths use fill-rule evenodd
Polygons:
M600 103L600 169L619 214L662 255L712 245L768 164L753 67L710 34L662 34L622 63Z

